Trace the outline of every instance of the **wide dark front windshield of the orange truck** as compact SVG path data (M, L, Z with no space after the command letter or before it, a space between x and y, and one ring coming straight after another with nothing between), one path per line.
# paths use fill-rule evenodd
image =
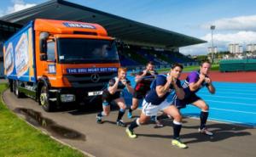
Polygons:
M59 62L62 64L119 62L114 41L60 38L57 44Z

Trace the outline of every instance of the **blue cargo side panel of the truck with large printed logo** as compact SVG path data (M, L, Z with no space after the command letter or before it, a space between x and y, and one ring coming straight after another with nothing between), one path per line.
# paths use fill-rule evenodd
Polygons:
M36 82L33 32L31 22L4 43L4 75L8 79Z

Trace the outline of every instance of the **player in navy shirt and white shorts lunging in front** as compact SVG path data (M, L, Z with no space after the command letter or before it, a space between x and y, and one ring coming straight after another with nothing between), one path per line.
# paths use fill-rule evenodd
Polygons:
M137 126L145 124L150 119L150 116L156 115L157 112L161 110L166 113L166 115L171 115L174 118L172 145L176 145L182 149L187 148L187 145L182 143L179 139L179 133L182 128L182 115L174 105L170 105L170 103L167 102L167 96L172 93L173 90L178 98L184 98L183 88L178 80L182 70L182 64L173 64L167 76L159 75L156 77L151 90L143 100L142 114L137 120L132 121L131 125L125 130L129 137L136 138L137 135L133 132L134 129Z

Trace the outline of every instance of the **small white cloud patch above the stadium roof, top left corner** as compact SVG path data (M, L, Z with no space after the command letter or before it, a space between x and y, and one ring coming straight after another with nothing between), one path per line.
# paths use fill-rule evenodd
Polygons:
M15 13L25 8L31 8L37 4L25 3L23 0L12 0L13 6L8 7L5 14Z

